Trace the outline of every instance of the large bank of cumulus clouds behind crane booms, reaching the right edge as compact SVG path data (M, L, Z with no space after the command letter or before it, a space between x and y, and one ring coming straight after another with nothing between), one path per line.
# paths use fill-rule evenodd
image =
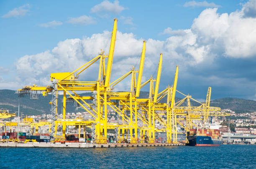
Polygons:
M180 87L189 89L192 84L196 84L193 87L198 87L198 90L201 90L201 85L207 85L207 87L215 85L218 89L218 87L223 88L223 84L229 83L228 88L232 88L234 93L242 88L251 90L250 86L245 87L243 84L255 84L255 77L248 77L250 70L242 73L241 70L237 70L237 67L243 60L256 56L255 27L256 18L244 17L244 10L220 14L217 8L205 9L195 18L190 29L172 30L169 27L164 31L166 35L170 35L166 40L146 40L143 80L147 80L154 74L159 54L163 53L162 88L172 84L172 75L178 64L181 72L179 78L183 79L179 81L179 89ZM59 42L51 51L25 55L15 63L17 78L20 78L20 84L28 85L28 83L49 81L49 75L52 72L75 70L97 56L100 49L108 53L110 36L111 32L104 31L83 39L67 39ZM136 65L138 69L143 39L136 38L133 33L118 31L115 44L111 81L131 70L131 65ZM223 62L223 60L226 61ZM238 60L238 63L231 63L233 60ZM247 62L243 62L243 65ZM250 63L256 64L256 62ZM232 69L228 70L227 65L233 65ZM247 67L253 69L254 64ZM95 71L97 69L98 65L95 64L85 74L80 74L81 80L97 80L97 71ZM233 72L230 72L231 70ZM233 82L238 84L231 87ZM128 88L128 81L116 86L117 90ZM190 93L190 91L185 92Z

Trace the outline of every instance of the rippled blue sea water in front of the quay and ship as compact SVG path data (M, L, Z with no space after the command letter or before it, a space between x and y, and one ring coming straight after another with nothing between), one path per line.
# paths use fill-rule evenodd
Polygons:
M256 169L256 145L0 148L2 169Z

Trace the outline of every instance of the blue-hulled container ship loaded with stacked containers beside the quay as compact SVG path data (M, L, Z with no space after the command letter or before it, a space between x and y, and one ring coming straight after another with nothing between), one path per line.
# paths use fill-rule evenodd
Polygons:
M187 140L188 146L220 146L222 143L219 129L190 129Z

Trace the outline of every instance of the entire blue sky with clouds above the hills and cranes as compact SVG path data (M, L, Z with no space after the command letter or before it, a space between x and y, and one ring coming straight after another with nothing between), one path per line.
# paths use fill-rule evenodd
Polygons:
M255 0L1 1L0 89L46 85L51 72L72 71L100 48L108 52L114 17L112 80L136 65L147 40L143 80L162 52L160 89L172 85L179 65L181 92L205 99L211 86L212 99L256 99ZM93 72L84 76L96 80ZM128 89L128 81L116 89Z

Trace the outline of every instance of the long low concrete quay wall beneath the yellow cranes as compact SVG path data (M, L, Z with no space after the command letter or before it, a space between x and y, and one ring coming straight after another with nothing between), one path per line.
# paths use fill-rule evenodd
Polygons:
M166 146L184 146L185 144L166 144L166 143L108 143L108 144L94 144L94 143L52 143L52 142L28 142L28 143L17 143L8 142L0 143L0 147L24 147L24 148L116 148L116 147L166 147Z

